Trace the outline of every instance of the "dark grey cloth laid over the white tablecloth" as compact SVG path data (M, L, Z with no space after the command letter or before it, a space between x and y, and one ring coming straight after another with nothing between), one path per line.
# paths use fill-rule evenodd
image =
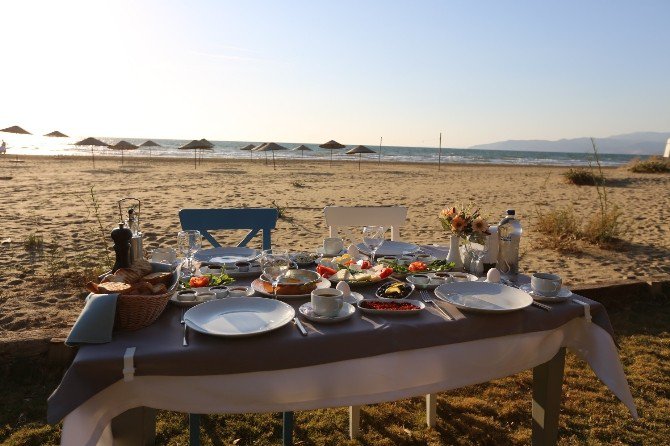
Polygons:
M237 283L248 283L238 281ZM372 297L377 287L356 291ZM288 301L296 308L308 299ZM605 308L591 305L593 322L613 333ZM458 310L445 305L452 313ZM123 379L123 354L136 347L135 374L163 376L224 375L290 369L365 358L402 350L434 347L484 338L557 328L584 315L581 305L565 302L551 311L528 307L506 314L463 313L449 322L437 310L412 316L371 316L356 312L338 324L312 324L301 318L309 336L291 323L248 338L221 338L189 330L189 346L182 347L181 309L169 305L151 326L135 332L114 333L108 344L83 345L60 386L48 401L47 419L60 421L107 386Z

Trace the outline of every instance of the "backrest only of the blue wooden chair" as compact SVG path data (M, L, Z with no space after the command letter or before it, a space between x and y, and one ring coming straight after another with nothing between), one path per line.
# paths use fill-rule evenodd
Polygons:
M182 229L197 229L214 247L221 246L208 232L217 229L249 229L237 246L246 246L258 231L263 231L263 249L272 248L272 229L279 212L275 208L182 209Z

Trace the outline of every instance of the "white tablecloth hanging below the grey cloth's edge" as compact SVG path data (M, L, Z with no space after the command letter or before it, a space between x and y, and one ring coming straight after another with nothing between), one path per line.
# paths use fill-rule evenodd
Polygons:
M310 410L394 401L513 375L561 347L586 360L637 418L609 333L584 318L554 330L400 351L311 367L217 376L137 376L99 392L63 420L61 444L111 445L112 418L134 407L188 413Z

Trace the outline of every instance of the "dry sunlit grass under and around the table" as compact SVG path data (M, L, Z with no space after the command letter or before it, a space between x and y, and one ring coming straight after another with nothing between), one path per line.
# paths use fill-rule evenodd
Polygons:
M621 360L640 420L568 354L559 445L660 445L670 438L670 302L649 300L610 314ZM55 445L59 426L44 422L46 398L60 375L34 359L3 364L0 371L0 442ZM352 377L354 379L355 377ZM365 406L361 438L348 440L346 408L296 413L299 445L525 445L530 443L531 373L440 394L435 429L424 424L422 398ZM159 445L188 444L184 414L159 412ZM279 414L203 417L203 445L276 445ZM235 443L235 441L237 442Z

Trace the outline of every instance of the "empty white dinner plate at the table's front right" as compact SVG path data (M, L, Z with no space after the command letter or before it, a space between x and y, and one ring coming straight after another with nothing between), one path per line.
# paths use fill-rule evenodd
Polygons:
M445 283L435 289L435 295L461 310L483 313L508 313L533 303L524 291L488 282Z

